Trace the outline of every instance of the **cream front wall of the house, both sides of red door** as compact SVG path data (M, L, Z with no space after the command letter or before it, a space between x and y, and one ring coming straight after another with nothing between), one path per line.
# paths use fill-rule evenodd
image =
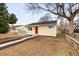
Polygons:
M28 31L26 28L27 34L35 35L35 27L32 27L32 31ZM53 26L53 28L49 28L49 26L38 26L38 35L44 36L54 36L56 37L57 27Z

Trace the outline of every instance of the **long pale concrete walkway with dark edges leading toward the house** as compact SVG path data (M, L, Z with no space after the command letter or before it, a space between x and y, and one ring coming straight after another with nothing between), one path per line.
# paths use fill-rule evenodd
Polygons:
M12 45L15 45L17 43L23 42L23 41L28 40L29 38L33 38L33 37L35 37L35 36L24 35L23 37L20 37L20 38L15 38L13 40L10 39L10 41L2 42L2 43L0 43L0 50L4 49L6 47L10 47Z

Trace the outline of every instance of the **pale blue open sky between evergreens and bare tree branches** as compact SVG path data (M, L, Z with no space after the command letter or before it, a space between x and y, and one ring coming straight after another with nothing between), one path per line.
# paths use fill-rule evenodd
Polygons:
M18 18L15 25L27 25L39 21L40 17L44 16L47 12L32 14L30 11L26 12L24 3L7 3L9 13L14 13Z

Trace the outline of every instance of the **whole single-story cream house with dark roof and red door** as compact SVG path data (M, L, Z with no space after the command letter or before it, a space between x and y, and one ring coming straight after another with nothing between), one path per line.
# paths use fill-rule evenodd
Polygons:
M31 23L25 26L26 34L30 35L44 35L44 36L54 36L57 35L57 21L46 21Z

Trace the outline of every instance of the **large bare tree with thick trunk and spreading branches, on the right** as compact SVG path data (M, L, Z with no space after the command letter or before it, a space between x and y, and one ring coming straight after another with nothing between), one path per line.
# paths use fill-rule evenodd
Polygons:
M69 21L69 33L73 33L73 20L79 13L78 3L28 3L26 4L26 7L30 11L44 10L60 17L66 18Z

